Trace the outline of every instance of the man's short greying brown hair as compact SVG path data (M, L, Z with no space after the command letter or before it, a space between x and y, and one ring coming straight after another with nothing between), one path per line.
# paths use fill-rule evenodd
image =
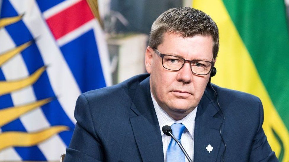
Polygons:
M169 9L161 14L152 24L149 46L157 48L163 41L163 34L174 32L182 37L195 35L212 36L213 58L219 51L219 30L211 17L204 12L191 7Z

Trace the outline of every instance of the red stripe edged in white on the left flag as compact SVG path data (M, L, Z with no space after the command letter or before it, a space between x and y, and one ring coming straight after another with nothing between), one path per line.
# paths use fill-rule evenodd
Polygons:
M46 22L55 39L75 30L94 16L86 0L82 0L67 9L46 19Z

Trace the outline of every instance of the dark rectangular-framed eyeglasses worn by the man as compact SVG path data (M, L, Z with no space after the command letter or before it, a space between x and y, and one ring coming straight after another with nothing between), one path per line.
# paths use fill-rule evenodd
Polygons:
M192 73L197 75L207 75L211 72L214 62L204 61L204 60L185 60L184 58L161 54L156 48L154 48L155 53L162 58L163 67L172 70L179 71L185 64L185 62L191 63Z

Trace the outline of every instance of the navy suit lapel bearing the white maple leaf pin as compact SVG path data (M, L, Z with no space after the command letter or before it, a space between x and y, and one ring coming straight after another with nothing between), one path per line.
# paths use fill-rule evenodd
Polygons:
M219 108L213 98L214 94L207 87L198 105L195 119L194 161L216 161L218 154L222 153L219 128L223 116L218 113ZM211 152L206 149L209 145L213 147Z

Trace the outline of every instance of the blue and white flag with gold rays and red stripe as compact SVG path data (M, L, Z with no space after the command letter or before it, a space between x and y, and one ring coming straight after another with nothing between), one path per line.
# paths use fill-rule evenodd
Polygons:
M0 161L58 161L77 97L109 85L86 0L0 0Z

